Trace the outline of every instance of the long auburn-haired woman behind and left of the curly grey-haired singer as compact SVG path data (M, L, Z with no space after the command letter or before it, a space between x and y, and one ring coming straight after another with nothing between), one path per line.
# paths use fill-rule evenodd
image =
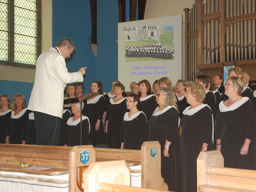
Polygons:
M138 110L143 111L147 119L149 119L157 107L156 97L154 94L151 94L151 85L148 80L144 79L140 81L139 87L140 104Z

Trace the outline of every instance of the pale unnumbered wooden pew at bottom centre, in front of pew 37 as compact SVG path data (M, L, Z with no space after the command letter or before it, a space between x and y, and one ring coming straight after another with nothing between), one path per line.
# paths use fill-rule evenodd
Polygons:
M124 160L93 162L84 173L84 192L163 192L129 185L130 169Z

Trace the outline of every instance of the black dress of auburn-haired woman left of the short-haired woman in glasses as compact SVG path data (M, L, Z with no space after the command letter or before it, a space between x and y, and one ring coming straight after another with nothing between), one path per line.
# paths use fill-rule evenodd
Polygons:
M121 129L124 114L127 112L125 100L126 97L115 103L113 98L109 99L106 121L108 121L107 145L110 148L120 148L121 146Z

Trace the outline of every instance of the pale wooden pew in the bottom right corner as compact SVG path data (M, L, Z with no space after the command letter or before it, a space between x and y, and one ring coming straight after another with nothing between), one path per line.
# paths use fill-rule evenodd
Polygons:
M224 167L220 151L200 152L197 158L197 191L256 191L256 171Z

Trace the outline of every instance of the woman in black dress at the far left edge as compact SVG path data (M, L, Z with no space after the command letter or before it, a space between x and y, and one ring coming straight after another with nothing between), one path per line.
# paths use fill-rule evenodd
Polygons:
M0 96L0 143L5 143L8 122L11 120L11 100L8 95Z

